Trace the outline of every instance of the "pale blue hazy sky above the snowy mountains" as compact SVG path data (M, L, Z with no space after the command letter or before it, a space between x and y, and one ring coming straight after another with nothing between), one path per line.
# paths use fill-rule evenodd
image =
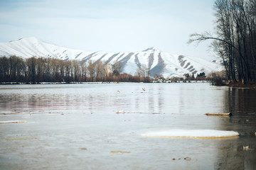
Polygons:
M87 51L157 47L213 58L209 43L188 45L191 33L213 32L214 0L1 0L0 42L36 37Z

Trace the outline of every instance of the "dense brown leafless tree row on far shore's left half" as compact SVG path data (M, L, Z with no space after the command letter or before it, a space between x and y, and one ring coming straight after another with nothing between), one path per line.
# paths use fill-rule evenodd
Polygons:
M119 74L121 63L107 74L102 61L63 61L55 58L0 57L0 82L86 82L86 81L149 81L141 74Z

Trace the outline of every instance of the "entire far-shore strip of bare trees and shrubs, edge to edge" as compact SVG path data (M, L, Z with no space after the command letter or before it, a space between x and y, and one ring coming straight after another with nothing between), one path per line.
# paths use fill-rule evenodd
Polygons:
M211 81L216 86L235 86L256 88L254 81L232 82L223 72L211 72L206 75L183 74L183 77L164 78L161 75L150 76L150 72L142 68L137 74L120 74L121 63L114 64L114 70L107 72L107 64L102 61L87 64L85 61L64 61L55 58L30 57L23 59L16 57L0 57L0 84L38 84L42 82L53 83L79 83L79 82L193 82Z

